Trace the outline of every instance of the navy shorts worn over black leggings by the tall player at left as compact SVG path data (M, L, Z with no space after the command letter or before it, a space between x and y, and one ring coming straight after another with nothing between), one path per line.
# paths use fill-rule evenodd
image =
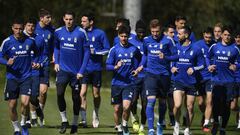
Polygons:
M61 69L57 72L56 85L58 84L63 84L66 86L69 84L72 89L79 91L81 89L81 82L77 79L77 75Z

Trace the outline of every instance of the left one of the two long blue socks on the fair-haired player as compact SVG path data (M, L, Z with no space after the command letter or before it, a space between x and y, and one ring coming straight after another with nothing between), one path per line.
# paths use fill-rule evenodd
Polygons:
M156 103L156 99L148 99L146 115L148 120L148 129L154 129L154 105Z

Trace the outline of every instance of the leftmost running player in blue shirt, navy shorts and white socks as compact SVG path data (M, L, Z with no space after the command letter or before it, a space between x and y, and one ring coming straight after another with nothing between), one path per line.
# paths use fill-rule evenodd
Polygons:
M13 35L6 38L0 48L0 63L6 65L5 100L8 101L9 115L14 128L14 134L20 135L20 126L17 114L17 99L20 96L22 135L28 135L26 127L27 107L29 106L31 90L32 68L37 68L38 57L32 60L31 51L37 55L37 48L33 38L23 34L23 22L14 20L12 23ZM6 58L6 59L5 59Z

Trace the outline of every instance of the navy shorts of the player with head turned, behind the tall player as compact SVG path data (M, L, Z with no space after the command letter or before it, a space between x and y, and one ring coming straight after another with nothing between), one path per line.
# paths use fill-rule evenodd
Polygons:
M102 85L102 72L94 71L84 74L82 84L92 84L93 86L100 88Z

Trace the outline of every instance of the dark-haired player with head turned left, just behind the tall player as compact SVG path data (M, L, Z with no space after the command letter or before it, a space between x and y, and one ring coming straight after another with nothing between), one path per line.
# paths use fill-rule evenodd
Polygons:
M81 104L81 117L83 127L87 126L86 120L86 109L87 109L87 89L88 84L92 84L92 94L94 110L92 114L92 125L94 128L99 126L99 108L101 103L100 88L102 83L102 61L103 56L106 55L110 49L108 38L105 32L94 26L95 17L93 13L86 12L81 18L82 27L86 30L91 55L87 64L86 74L84 74L82 80L82 88L80 92L82 104Z

